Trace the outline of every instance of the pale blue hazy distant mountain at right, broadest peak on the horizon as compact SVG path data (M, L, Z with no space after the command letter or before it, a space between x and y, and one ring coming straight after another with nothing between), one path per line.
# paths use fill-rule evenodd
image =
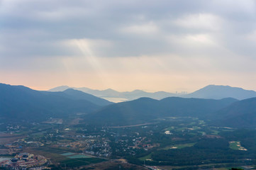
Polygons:
M256 97L256 91L248 91L238 87L231 86L216 86L209 85L198 91L194 91L191 94L187 94L184 97L187 98L237 98L238 100L243 100L245 98Z

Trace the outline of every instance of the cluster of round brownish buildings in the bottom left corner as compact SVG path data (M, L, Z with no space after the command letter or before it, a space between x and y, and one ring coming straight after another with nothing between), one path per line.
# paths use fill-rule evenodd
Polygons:
M14 158L0 162L0 167L9 169L29 169L32 167L44 166L48 160L41 155L29 153L17 154Z

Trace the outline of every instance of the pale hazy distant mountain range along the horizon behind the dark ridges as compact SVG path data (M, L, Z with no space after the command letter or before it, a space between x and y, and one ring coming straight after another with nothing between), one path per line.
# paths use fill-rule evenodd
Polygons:
M209 85L198 91L194 91L191 94L172 94L165 91L158 91L155 93L148 93L141 90L135 91L126 91L126 92L118 92L113 89L106 89L103 91L93 90L86 87L76 88L69 86L58 86L49 91L64 91L66 89L77 89L79 91L84 91L87 94L92 94L94 96L98 96L100 98L108 99L109 101L131 101L141 97L154 98L157 100L161 100L162 98L179 96L183 98L212 98L212 99L221 99L221 98L236 98L238 100L243 100L246 98L256 97L256 91L249 91L238 87L231 86L217 86L217 85Z

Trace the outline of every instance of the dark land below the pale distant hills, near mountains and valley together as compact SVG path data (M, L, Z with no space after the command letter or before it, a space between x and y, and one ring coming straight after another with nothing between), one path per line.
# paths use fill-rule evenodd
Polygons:
M256 165L256 98L143 97L111 103L73 89L35 91L6 84L0 84L0 94L5 169Z

